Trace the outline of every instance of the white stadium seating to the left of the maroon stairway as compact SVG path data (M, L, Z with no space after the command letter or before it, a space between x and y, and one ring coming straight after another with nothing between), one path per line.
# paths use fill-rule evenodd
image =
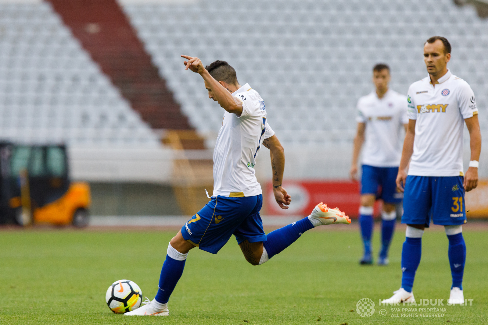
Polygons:
M158 135L41 1L0 3L0 139L160 147Z

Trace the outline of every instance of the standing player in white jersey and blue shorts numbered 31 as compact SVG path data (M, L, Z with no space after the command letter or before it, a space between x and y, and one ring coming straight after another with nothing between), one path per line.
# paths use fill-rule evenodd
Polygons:
M464 192L478 185L481 134L473 91L466 81L447 69L450 53L451 45L446 38L429 38L424 45L429 75L408 89L408 130L396 179L398 188L405 190L402 223L407 224L402 250L402 287L383 303L414 301L413 280L420 263L422 234L430 218L435 225L444 226L449 240L452 286L447 303L464 303ZM464 180L463 120L471 147L471 161Z

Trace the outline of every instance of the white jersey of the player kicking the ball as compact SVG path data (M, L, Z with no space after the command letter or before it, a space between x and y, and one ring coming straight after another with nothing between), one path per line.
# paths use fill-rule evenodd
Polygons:
M213 196L262 194L254 165L263 140L274 131L266 122L264 100L247 83L232 93L243 103L241 116L224 113L213 154Z

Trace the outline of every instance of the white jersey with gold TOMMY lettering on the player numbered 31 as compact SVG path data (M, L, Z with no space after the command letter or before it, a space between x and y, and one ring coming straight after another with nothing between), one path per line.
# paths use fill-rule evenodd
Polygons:
M463 175L464 119L478 114L471 87L447 70L435 87L429 76L412 83L407 100L408 118L417 120L408 174Z

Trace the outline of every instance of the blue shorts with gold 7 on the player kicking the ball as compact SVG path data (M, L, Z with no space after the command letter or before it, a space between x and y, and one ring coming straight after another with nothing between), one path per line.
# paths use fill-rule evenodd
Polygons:
M263 221L259 211L263 194L243 197L212 196L202 210L198 211L182 227L183 238L200 249L212 254L235 235L237 243L266 241Z

